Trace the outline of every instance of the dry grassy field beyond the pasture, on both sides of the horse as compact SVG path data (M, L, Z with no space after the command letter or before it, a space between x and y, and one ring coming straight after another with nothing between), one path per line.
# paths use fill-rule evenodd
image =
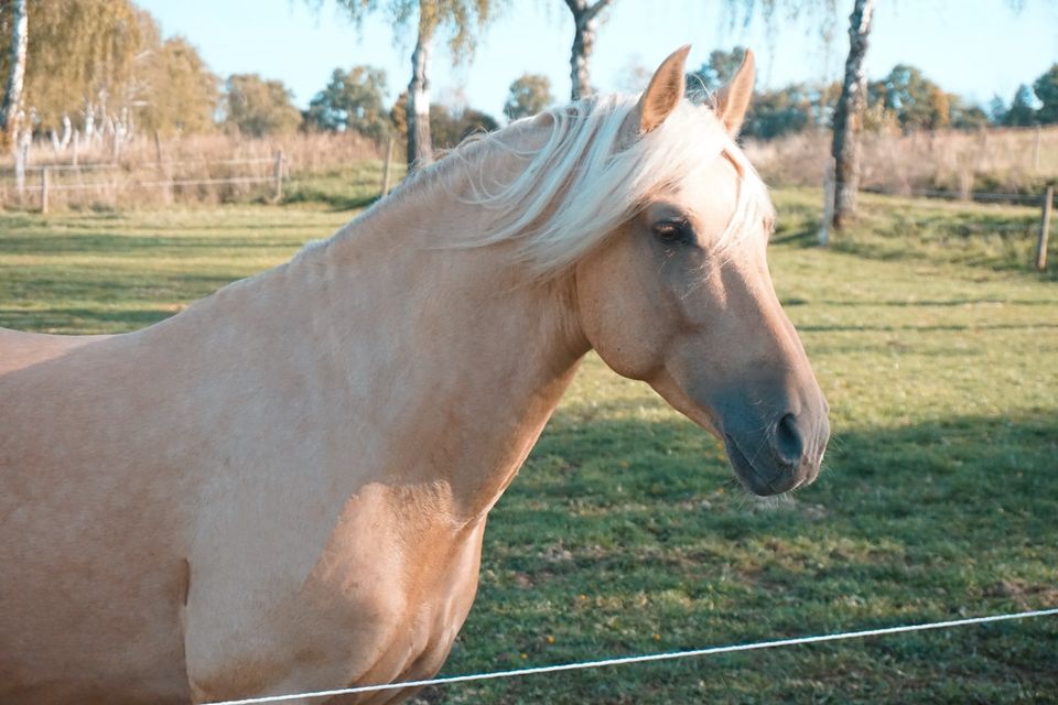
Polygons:
M748 141L746 151L776 186L820 186L830 160L830 133L803 132ZM56 151L33 147L23 189L10 156L0 159L0 207L36 209L41 169L48 167L51 208L111 210L177 205L268 203L276 197L276 158L283 153L284 203L325 200L352 208L382 186L386 145L357 134L298 133L274 139L214 134L158 142L138 137L100 140ZM74 166L74 162L77 166ZM403 175L403 144L393 148L395 175ZM970 199L1036 203L1058 181L1058 127L865 133L864 191L895 195L930 192ZM936 192L942 192L940 194Z

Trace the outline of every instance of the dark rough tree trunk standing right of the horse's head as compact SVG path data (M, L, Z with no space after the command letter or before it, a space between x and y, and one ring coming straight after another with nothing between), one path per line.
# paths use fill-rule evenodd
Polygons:
M866 104L867 78L863 73L863 57L867 53L871 13L874 0L855 0L849 17L849 58L845 59L845 79L834 109L834 218L841 229L856 215L856 192L860 188L860 132Z

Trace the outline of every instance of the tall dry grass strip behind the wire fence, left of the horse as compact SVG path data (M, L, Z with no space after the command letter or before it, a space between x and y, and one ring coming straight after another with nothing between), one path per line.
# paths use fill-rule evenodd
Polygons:
M24 188L12 156L0 160L0 207L39 208L47 167L50 208L110 210L130 207L263 200L274 195L277 154L284 178L301 178L381 158L382 149L358 134L295 133L270 139L228 134L155 141L137 137L115 149L105 139L78 149L50 142L30 151Z

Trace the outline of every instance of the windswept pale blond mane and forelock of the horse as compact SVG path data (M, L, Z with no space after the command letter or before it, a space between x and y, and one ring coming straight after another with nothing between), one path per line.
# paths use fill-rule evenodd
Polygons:
M472 135L407 180L395 196L410 200L419 187L441 185L467 206L486 209L492 218L484 235L447 246L511 242L518 262L541 279L576 262L651 195L722 153L734 163L739 187L734 216L715 247L731 246L770 216L766 186L710 108L684 100L657 129L629 137L623 126L637 101L638 96L593 96ZM519 145L515 135L526 128L548 130L542 147ZM522 165L497 170L497 159ZM497 173L514 177L504 181Z

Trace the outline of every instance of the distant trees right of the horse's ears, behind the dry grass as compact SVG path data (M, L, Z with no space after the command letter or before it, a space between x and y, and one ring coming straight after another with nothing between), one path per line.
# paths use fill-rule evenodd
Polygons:
M714 51L688 75L692 99L705 99L734 75L745 50ZM774 139L808 129L830 129L841 85L794 84L758 91L743 126L744 137ZM1032 86L1023 84L1010 104L995 96L985 109L948 93L915 66L897 64L884 78L867 84L863 129L890 134L917 130L1025 127L1058 123L1058 64Z

